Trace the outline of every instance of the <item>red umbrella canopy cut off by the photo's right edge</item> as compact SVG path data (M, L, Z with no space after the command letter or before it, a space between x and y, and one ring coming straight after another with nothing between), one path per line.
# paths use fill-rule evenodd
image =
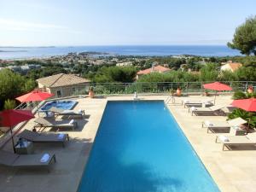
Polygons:
M248 112L256 112L256 98L237 99L231 103L236 108L241 108Z

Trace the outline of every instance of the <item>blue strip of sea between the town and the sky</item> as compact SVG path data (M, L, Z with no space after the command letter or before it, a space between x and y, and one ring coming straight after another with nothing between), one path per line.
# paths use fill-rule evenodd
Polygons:
M235 56L238 50L225 45L122 45L122 46L66 46L66 47L0 47L0 59L26 59L67 55L68 53L101 52L108 55L199 55Z

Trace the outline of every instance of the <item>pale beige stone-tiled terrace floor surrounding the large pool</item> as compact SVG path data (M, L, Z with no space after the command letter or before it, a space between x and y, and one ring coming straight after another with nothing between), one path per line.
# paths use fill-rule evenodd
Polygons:
M206 98L201 96L189 97L195 100ZM144 100L165 100L166 96L141 96L141 98ZM67 143L66 147L62 148L60 144L34 145L35 153L53 152L56 154L57 162L52 165L51 171L14 170L1 166L0 191L77 191L107 101L131 99L132 96L111 96L96 99L77 98L79 104L75 109L84 109L86 117L79 120L78 130L67 131L71 141ZM230 192L255 191L256 150L222 151L222 144L214 142L216 134L208 134L206 129L201 128L201 122L204 119L225 120L226 117L191 116L188 109L181 106L182 99L182 97L177 98L176 104L170 103L168 108L172 111L177 123L195 148L208 172L218 184L219 189ZM230 102L230 96L217 97L218 104L226 105ZM25 128L32 129L33 125L33 120L31 120ZM10 143L3 149L11 151Z

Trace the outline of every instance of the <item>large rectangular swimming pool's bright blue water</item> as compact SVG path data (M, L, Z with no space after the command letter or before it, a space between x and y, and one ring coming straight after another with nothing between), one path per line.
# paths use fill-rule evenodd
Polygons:
M79 192L219 191L164 102L108 102Z

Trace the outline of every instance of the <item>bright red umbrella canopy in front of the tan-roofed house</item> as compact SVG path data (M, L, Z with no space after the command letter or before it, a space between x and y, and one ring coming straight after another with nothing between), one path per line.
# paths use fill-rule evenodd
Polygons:
M54 94L42 92L40 90L32 90L24 96L17 97L16 100L19 100L20 102L39 102L44 101L51 96L54 96Z

